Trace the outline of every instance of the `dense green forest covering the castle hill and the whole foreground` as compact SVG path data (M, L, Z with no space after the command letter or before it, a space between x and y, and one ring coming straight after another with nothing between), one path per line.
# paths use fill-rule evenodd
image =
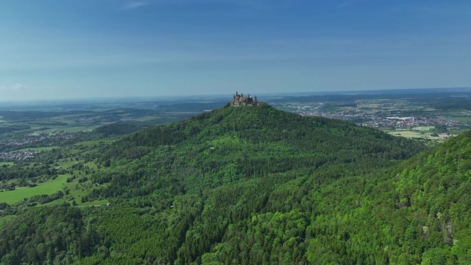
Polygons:
M0 204L0 264L471 264L471 132L227 105L83 156L109 205Z

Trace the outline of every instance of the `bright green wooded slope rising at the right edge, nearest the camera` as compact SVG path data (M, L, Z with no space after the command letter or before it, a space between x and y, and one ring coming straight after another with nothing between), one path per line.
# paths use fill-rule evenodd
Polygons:
M395 262L471 264L471 131L390 169L368 200Z

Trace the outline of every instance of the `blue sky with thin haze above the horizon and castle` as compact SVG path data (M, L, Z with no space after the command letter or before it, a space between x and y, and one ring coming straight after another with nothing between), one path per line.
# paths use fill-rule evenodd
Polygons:
M0 101L471 85L471 2L0 3Z

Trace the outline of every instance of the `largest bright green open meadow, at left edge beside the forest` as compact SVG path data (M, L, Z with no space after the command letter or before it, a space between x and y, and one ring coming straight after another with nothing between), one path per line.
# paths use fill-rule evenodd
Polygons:
M65 180L70 177L69 174L58 176L55 180L39 184L36 187L21 187L14 191L3 191L0 192L0 202L6 202L8 204L14 204L15 202L21 202L24 198L30 198L35 195L51 195L57 191L61 191L65 183Z

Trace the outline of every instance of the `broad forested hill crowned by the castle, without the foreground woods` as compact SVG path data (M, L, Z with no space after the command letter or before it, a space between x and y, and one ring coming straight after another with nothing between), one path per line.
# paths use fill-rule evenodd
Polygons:
M341 120L300 116L266 104L228 105L138 131L103 150L100 158L111 167L97 174L96 182L110 183L96 196L134 199L160 194L164 187L195 192L276 173L295 178L326 171L325 178L338 178L392 165L422 148Z

